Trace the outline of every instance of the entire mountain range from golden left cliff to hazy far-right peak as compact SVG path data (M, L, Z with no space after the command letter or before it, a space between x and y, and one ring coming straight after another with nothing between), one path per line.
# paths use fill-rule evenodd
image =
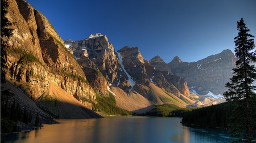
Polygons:
M118 107L134 112L162 104L201 107L225 101L221 95L236 62L231 50L192 63L179 57L165 63L159 56L147 61L138 47L115 50L101 33L63 41L29 3L8 4L6 17L15 24L10 26L13 36L1 37L8 47L3 55L8 83L3 86L26 98L18 101L30 106L29 101L31 110L60 118L101 118L92 110L96 96L110 93Z

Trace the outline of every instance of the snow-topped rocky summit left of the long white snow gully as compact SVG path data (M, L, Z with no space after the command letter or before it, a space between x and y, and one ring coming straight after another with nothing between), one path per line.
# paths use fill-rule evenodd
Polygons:
M85 40L71 42L70 48L75 49L73 55L75 55L80 64L85 64L88 67L90 63L86 60L89 59L97 65L102 75L110 83L113 83L115 77L117 77L119 62L114 53L113 45L105 35L97 33L89 36ZM90 68L96 67L91 66Z

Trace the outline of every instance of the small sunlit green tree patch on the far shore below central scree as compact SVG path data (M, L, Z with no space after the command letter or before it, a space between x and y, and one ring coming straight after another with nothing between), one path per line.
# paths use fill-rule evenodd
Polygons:
M154 109L147 111L147 116L164 116L164 117L182 117L186 112L192 111L192 108L181 108L173 104L155 105Z

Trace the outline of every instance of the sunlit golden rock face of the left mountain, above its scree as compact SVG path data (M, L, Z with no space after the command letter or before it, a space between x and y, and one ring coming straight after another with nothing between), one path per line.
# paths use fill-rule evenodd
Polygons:
M96 93L51 23L26 1L10 0L8 4L6 17L15 24L10 27L13 36L1 37L8 46L4 55L7 80L18 82L35 99L54 83L92 108Z

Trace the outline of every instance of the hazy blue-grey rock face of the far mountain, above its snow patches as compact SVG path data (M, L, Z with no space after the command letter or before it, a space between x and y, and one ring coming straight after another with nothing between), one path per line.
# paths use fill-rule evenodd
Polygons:
M218 95L225 92L225 84L233 76L235 62L236 57L232 51L224 50L192 63L182 62L179 57L175 57L168 65L175 75L187 81L191 90L201 95L209 92Z

